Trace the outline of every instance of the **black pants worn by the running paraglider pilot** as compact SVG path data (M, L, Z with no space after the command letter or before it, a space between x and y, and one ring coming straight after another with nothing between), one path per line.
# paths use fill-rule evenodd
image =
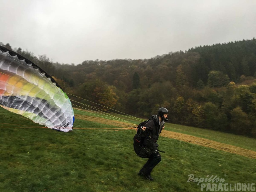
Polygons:
M154 152L148 158L148 161L143 166L143 171L145 174L150 174L153 168L161 161L162 157L159 154L156 147L154 147Z

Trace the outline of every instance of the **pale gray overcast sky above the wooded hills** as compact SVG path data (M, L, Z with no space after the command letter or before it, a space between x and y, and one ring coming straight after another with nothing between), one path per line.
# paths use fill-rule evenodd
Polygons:
M59 63L149 59L253 37L255 0L0 0L0 42Z

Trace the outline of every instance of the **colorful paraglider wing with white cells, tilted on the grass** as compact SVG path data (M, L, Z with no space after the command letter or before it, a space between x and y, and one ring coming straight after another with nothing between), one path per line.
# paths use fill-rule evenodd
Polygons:
M0 106L50 129L72 130L74 111L66 93L42 69L0 46Z

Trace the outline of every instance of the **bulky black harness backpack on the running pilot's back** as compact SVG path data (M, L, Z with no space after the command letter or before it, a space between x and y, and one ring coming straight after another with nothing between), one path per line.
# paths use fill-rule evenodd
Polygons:
M150 120L150 119L149 119ZM153 153L153 137L149 135L148 130L142 131L142 127L149 121L141 122L137 127L137 133L133 137L134 152L142 158L149 158Z

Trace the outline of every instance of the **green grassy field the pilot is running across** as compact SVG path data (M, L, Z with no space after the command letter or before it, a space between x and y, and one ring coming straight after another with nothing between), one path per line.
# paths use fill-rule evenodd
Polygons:
M190 174L218 176L232 186L255 183L256 159L166 137L159 139L166 153L151 174L155 180L148 181L137 175L146 159L133 151L135 130L77 119L74 127L83 129L61 133L2 108L0 114L0 191L200 191L200 184L187 182ZM166 130L255 150L251 138L169 123Z

